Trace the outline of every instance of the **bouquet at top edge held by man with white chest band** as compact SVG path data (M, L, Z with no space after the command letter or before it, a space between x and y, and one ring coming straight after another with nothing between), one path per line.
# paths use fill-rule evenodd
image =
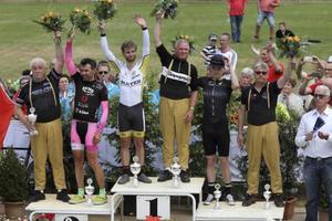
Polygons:
M151 12L152 17L164 14L165 19L175 19L178 11L178 0L158 0L155 8Z

